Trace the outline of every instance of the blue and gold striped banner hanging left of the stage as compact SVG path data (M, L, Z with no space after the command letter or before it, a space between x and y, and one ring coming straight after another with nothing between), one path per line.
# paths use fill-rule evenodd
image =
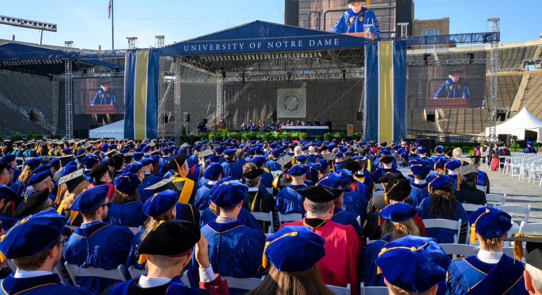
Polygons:
M158 137L159 51L127 50L124 75L124 137Z

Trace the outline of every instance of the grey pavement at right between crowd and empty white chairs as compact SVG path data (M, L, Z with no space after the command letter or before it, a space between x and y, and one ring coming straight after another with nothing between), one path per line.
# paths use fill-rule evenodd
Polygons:
M528 222L542 222L542 187L539 186L540 180L529 183L527 178L520 180L518 176L512 178L510 175L494 172L491 169L481 168L481 170L486 172L489 178L490 193L506 194L505 205L531 205ZM514 217L514 221L517 220L519 219Z

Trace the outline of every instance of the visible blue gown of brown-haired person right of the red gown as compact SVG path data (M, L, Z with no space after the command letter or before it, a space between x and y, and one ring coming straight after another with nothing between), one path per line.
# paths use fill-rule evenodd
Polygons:
M363 271L363 283L366 286L385 286L384 276L382 273L377 274L377 266L375 264L378 254L387 242L391 241L391 237L386 235L381 240L376 240L371 244L365 246L362 256L362 265L360 266Z

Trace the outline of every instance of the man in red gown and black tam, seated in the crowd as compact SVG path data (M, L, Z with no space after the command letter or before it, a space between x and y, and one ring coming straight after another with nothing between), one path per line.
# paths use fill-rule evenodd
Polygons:
M326 241L326 255L318 261L322 279L328 285L346 287L350 284L352 294L359 294L357 263L361 254L358 234L351 225L341 225L331 220L334 200L342 189L326 186L301 188L298 193L305 198L303 207L306 217L300 221L287 222L284 226L306 226Z

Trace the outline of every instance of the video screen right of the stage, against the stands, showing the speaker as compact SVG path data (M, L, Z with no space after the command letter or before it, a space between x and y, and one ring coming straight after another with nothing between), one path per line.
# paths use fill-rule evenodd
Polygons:
M485 106L485 64L410 67L408 82L411 108L468 109Z

